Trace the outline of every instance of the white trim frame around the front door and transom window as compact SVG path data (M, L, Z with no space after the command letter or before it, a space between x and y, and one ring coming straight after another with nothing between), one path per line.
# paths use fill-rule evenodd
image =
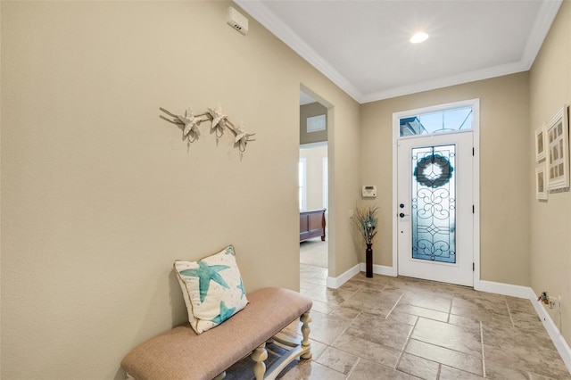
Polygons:
M460 102L438 104L434 106L417 108L414 110L393 112L393 276L398 276L398 178L397 178L397 163L398 163L398 140L400 135L400 122L401 118L406 118L419 113L439 112L451 110L454 108L461 108L472 106L472 131L474 133L474 289L480 290L480 99L468 99ZM454 133L454 132L452 132ZM405 137L414 138L414 137Z

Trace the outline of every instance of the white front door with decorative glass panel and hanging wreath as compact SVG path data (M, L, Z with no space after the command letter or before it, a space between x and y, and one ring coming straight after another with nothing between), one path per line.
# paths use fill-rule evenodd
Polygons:
M397 142L398 274L474 286L473 132Z

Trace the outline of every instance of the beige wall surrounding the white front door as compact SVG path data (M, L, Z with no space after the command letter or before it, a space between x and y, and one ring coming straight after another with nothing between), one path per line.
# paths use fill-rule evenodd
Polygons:
M380 206L376 264L393 265L393 112L479 98L480 277L530 285L528 77L520 73L361 106L361 183L377 184L378 194L364 203Z

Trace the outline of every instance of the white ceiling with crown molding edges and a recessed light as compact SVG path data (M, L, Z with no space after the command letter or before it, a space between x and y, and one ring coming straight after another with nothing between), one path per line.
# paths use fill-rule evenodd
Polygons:
M234 1L359 103L529 70L562 3Z

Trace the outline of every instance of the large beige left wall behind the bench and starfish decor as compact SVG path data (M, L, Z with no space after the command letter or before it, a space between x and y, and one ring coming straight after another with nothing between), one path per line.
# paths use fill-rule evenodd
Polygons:
M332 116L330 274L357 263L339 215L359 104L252 19L231 29L228 5L2 3L2 378L124 376L130 348L186 319L175 259L235 244L247 290L298 289L301 85ZM243 157L159 118L217 104L256 133Z

